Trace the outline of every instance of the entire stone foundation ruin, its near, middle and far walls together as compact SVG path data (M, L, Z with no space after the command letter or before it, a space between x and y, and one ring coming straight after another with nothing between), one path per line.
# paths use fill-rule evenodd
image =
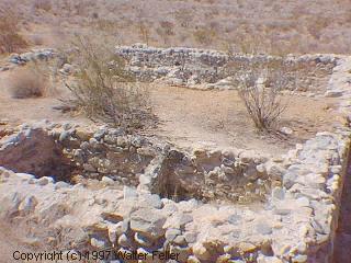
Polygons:
M193 87L199 78L203 83L195 84L216 88L228 77L222 70L227 57L213 52L118 50L145 80L169 81L174 67L184 67L180 77L173 73L181 85ZM185 62L177 62L179 57ZM239 149L184 150L105 126L22 125L0 140L0 218L27 229L26 243L66 254L110 249L145 254L139 262L174 262L156 261L155 251L191 263L333 262L350 165L351 60L294 59L315 68L308 77L306 66L303 91L339 98L344 119L332 133L320 130L286 155L264 157ZM111 254L101 262L137 262L117 260Z

